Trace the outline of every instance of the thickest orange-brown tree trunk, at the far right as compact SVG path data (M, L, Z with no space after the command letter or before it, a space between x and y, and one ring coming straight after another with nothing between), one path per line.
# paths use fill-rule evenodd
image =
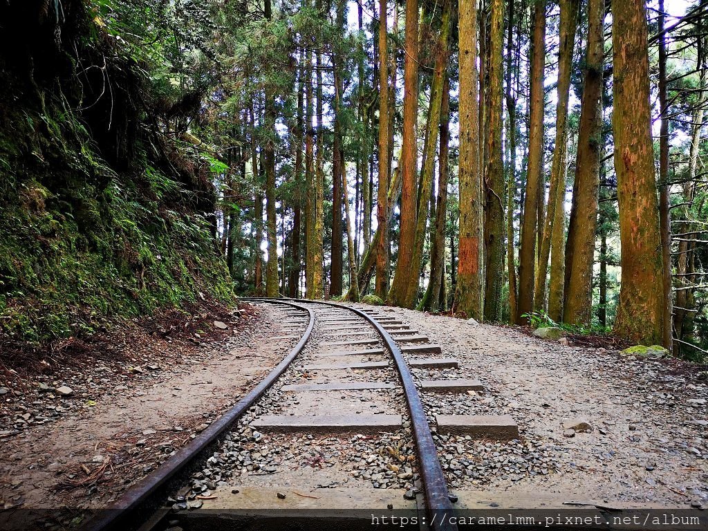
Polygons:
M646 3L612 0L612 131L619 202L622 284L617 336L653 345L663 341L663 262L656 199Z

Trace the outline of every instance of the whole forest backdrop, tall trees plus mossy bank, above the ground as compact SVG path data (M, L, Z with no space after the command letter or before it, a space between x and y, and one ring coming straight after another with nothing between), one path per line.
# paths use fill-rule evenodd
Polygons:
M707 33L705 0L9 0L0 326L234 290L704 359Z

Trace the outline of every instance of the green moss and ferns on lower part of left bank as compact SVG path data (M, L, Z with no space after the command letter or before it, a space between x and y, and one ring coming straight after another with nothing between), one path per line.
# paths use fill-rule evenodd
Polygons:
M142 173L113 171L60 109L0 116L0 337L43 343L200 294L230 301L181 184L147 159Z

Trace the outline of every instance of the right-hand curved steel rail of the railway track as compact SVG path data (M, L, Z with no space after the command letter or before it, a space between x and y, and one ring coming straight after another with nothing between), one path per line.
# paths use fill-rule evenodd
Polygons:
M270 302L278 299L261 298L258 300ZM447 481L445 481L445 475L442 474L438 451L435 449L433 435L430 433L430 426L428 426L428 419L423 409L421 396L418 394L418 388L413 382L413 376L411 375L406 360L404 360L401 348L396 345L391 334L384 330L376 319L366 312L346 306L345 304L309 299L288 300L307 304L325 304L326 306L350 310L369 321L379 333L379 336L383 338L384 343L386 343L386 346L391 350L394 360L396 361L396 370L398 370L399 376L401 377L401 383L403 384L406 394L406 401L408 402L408 409L411 413L413 438L416 440L416 450L418 451L418 460L420 461L421 475L423 476L423 489L426 493L428 524L435 531L456 531L457 525L449 521L449 517L455 514L455 508L452 507L452 502L450 501L450 493L447 491Z

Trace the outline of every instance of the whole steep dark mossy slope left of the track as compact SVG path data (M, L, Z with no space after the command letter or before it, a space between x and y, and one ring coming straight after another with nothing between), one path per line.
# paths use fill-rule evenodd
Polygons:
M43 50L56 56L44 70L25 69L17 50L0 52L4 342L85 335L111 319L232 292L205 164L149 120L138 65L106 53L111 44L81 2L67 6L74 11L60 22L74 22L64 28L71 47ZM3 9L5 20L54 31L52 18ZM11 28L0 28L0 45ZM31 62L33 50L25 52ZM79 77L78 65L101 55L113 75L110 98L101 92L108 75Z

